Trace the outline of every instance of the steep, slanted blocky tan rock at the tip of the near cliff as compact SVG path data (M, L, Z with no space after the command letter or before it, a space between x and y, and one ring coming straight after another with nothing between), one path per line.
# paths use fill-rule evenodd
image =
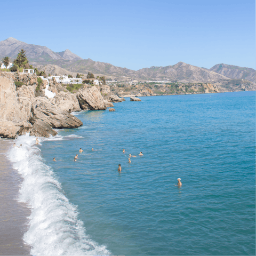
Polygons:
M83 110L106 109L102 95L96 86L86 87L76 93L79 106Z

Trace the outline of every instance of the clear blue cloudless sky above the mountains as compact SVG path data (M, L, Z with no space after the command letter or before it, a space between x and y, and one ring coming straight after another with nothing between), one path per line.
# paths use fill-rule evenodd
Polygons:
M1 3L0 41L138 70L183 61L255 69L253 0L57 0Z

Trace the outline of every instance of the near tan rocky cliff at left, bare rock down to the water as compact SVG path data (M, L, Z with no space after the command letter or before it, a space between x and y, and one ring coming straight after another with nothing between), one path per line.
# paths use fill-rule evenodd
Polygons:
M61 85L54 84L52 87L57 94L49 99L35 97L38 85L35 82L36 76L31 76L27 85L17 87L14 80L23 81L23 78L23 75L18 77L13 73L0 73L0 137L16 138L27 132L30 135L50 137L57 134L54 128L79 127L83 123L70 112L81 110L80 106L84 106L79 102L81 98L86 102L86 109L106 109L96 86L82 89L79 97L76 97L62 90Z

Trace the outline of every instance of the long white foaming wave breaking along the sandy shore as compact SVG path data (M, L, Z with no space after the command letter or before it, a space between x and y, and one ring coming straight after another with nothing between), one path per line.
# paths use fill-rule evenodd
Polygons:
M9 158L23 177L19 200L31 208L29 229L24 241L32 255L109 255L85 234L83 222L77 218L77 207L63 194L61 183L51 167L44 163L35 137L22 135L12 147Z

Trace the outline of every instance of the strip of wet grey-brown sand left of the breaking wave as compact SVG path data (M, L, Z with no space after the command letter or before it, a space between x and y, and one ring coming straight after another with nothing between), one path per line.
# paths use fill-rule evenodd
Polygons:
M12 144L13 140L0 140L0 255L30 255L22 239L30 210L17 201L22 178L5 157Z

